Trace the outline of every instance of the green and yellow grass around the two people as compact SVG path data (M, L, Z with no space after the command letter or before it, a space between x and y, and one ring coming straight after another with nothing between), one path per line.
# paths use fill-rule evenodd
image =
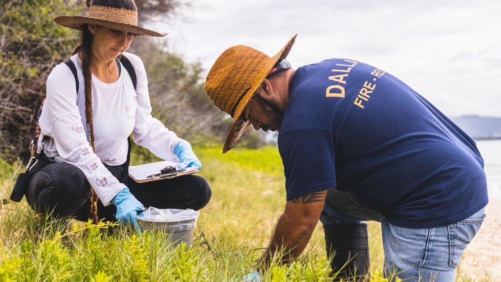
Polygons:
M133 154L133 163L155 160ZM139 151L141 152L141 151ZM210 183L193 246L172 247L162 233L137 237L126 226L54 220L41 226L27 202L0 206L0 281L239 281L255 269L285 207L285 178L276 147L260 150L196 149ZM20 164L0 160L0 200L7 199ZM380 228L369 222L371 281L381 276ZM266 281L329 280L322 226L291 265L274 263ZM472 281L467 274L459 281ZM478 278L476 278L478 280ZM480 279L481 280L481 279ZM488 279L485 279L488 280Z

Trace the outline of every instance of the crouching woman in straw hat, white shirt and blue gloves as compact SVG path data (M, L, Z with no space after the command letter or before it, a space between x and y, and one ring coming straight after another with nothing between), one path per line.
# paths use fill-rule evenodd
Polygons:
M71 61L83 83L77 84L65 64L56 66L47 79L47 99L39 120L39 163L30 181L28 202L35 210L54 216L119 220L135 226L144 206L204 207L211 190L200 176L140 184L127 173L131 133L137 144L158 157L180 162L179 168L201 167L190 144L151 116L144 65L137 56L124 54L136 35L166 34L137 26L133 0L87 0L87 6L87 17L54 19L82 31ZM134 69L135 89L117 59L122 54Z

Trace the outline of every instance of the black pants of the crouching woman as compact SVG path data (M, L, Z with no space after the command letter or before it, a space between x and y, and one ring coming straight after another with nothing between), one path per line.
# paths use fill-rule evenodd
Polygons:
M90 208L90 186L84 173L78 167L68 163L44 164L43 167L37 169L26 195L30 206L41 213L72 216L78 220L87 221ZM145 207L198 210L209 202L212 193L207 181L197 175L136 183L126 175L122 175L120 166L108 169L129 187L130 192ZM116 221L115 213L115 205L103 206L101 201L98 201L99 219Z

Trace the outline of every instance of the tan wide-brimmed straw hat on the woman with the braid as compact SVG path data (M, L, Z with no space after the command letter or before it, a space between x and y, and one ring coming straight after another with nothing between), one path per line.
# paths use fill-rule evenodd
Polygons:
M82 30L85 24L95 24L111 29L127 31L136 35L155 37L166 36L166 33L157 33L137 26L137 11L91 5L86 17L61 16L54 21L62 26L75 30Z

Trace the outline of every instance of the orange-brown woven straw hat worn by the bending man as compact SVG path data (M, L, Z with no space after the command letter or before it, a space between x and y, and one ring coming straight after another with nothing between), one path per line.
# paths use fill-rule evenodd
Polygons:
M243 109L280 57L287 57L296 36L273 57L244 45L230 47L217 58L210 69L205 81L205 92L219 109L233 117L222 148L223 153L235 145L250 125L249 121L239 119Z

